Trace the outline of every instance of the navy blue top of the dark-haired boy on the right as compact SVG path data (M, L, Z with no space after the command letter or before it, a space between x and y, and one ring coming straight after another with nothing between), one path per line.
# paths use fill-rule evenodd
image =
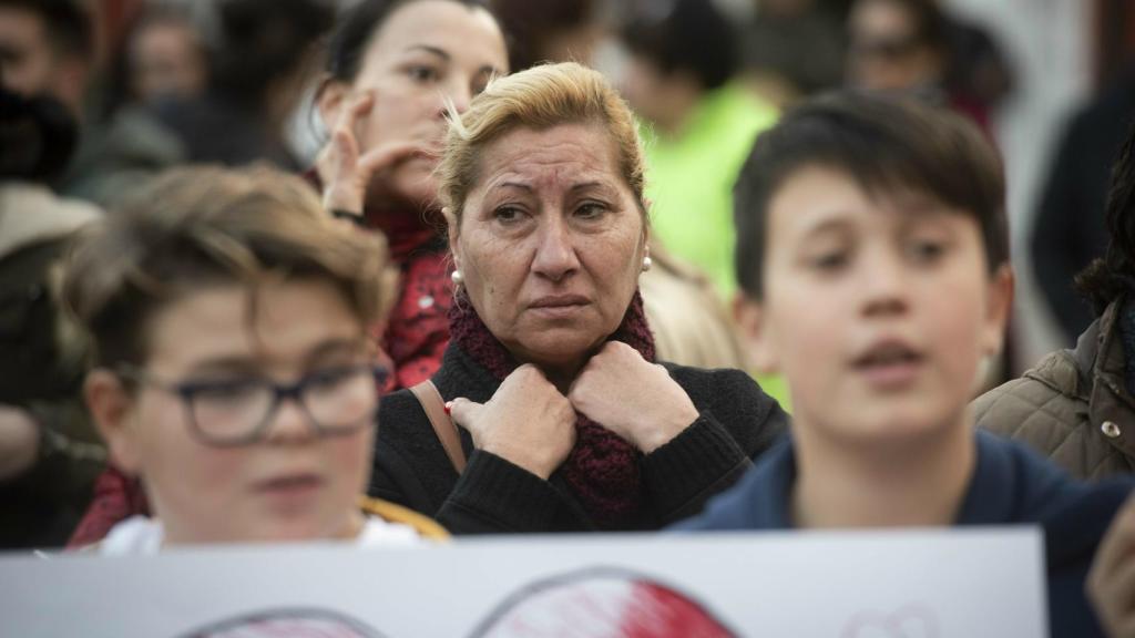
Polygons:
M976 445L977 464L955 524L1040 524L1053 638L1101 636L1084 595L1084 578L1100 538L1135 484L1076 481L1025 446L989 433L978 431ZM794 481L796 454L785 439L737 487L714 498L704 514L675 529L791 529Z

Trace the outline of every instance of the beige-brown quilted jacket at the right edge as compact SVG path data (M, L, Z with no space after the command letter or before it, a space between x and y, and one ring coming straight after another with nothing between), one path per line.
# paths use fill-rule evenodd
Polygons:
M978 427L1024 442L1078 478L1135 471L1135 400L1125 389L1115 302L1035 368L970 404Z

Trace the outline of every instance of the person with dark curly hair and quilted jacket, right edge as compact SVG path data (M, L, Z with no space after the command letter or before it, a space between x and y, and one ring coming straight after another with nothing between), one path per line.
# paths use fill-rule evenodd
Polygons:
M1020 439L1078 478L1135 470L1135 128L1111 178L1103 259L1076 285L1096 312L1074 350L974 401L977 425Z

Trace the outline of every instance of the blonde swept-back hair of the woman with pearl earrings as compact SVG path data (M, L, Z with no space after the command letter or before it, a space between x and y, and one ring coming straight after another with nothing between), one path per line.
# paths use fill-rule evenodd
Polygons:
M623 179L642 200L645 159L634 116L597 70L575 62L532 67L494 79L464 115L451 114L445 156L438 165L439 198L460 226L465 198L479 178L481 150L516 128L537 131L561 124L598 124L614 143Z

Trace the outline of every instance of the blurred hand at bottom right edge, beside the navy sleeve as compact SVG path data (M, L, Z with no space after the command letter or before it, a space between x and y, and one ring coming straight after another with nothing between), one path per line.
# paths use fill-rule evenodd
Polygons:
M1111 521L1086 588L1104 632L1111 638L1135 637L1135 496Z

